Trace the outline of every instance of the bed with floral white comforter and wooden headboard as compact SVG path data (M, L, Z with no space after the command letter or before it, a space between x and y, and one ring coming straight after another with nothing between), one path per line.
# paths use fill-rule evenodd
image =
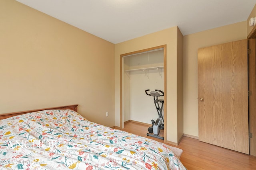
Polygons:
M0 169L186 169L168 145L90 122L77 106L0 115Z

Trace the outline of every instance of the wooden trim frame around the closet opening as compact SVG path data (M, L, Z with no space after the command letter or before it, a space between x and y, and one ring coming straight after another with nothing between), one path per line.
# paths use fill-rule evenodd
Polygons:
M164 49L164 101L167 101L167 93L166 93L166 45L160 45L160 46L156 46L156 47L152 47L152 48L148 48L148 49L142 49L139 51L133 51L130 53L125 53L125 54L121 54L120 55L120 129L124 128L124 115L123 115L123 74L124 74L124 70L123 70L123 57L127 56L127 55L135 55L137 53L145 53L147 51L152 51L152 50L156 50L156 49ZM167 113L167 106L166 103L164 104L164 122L166 122L166 115ZM167 131L164 131L164 142L166 142L166 135L167 135Z

